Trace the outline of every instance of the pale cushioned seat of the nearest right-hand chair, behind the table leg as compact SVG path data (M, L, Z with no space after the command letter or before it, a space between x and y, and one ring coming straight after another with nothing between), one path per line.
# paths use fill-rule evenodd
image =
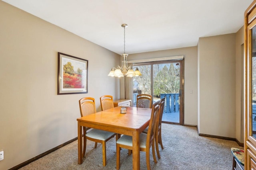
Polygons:
M140 133L140 148L146 148L147 134ZM132 147L132 136L122 135L116 143Z

